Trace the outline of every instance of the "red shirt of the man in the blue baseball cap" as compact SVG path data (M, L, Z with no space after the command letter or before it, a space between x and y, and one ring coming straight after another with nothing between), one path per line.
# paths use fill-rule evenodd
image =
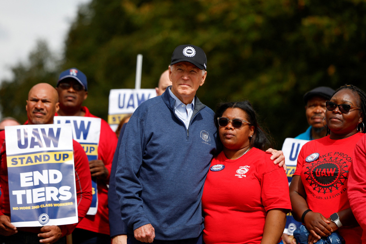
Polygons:
M85 117L98 118L90 113L87 107L81 107ZM98 159L102 160L109 174L111 173L113 156L117 147L117 136L107 121L102 119L100 126L100 137L98 145ZM98 210L96 215L86 215L78 224L77 228L90 230L97 233L109 235L108 221L108 188L109 175L106 179L97 179L98 184Z

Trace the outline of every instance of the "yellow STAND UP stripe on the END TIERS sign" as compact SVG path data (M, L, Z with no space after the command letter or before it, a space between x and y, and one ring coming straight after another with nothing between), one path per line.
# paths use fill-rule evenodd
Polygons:
M43 163L64 163L72 160L73 152L38 152L6 157L8 167L21 167Z

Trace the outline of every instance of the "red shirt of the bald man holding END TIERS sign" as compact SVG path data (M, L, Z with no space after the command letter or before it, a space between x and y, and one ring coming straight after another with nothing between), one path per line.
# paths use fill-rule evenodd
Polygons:
M74 148L76 200L78 201L79 222L86 215L91 203L91 176L89 161L82 146L72 140ZM10 216L9 186L8 186L8 166L6 160L5 131L0 131L0 215ZM62 236L71 234L78 223L70 225L60 225ZM41 233L41 227L24 227L19 230Z

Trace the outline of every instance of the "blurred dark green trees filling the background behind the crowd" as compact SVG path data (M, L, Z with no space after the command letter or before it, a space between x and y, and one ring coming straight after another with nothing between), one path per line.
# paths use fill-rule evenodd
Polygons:
M25 100L38 82L56 84L60 71L87 75L85 105L104 119L110 89L154 88L180 44L202 47L208 76L197 96L217 103L249 99L278 143L307 128L303 95L316 86L354 84L366 90L366 3L361 0L92 0L79 8L62 60L45 43L30 64L3 81L3 116L26 120Z

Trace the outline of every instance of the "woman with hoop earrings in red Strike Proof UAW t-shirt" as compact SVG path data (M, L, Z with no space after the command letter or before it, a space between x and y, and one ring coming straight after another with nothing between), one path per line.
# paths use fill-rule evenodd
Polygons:
M303 145L290 185L292 215L310 231L309 243L336 230L348 243L361 243L362 229L348 202L352 152L363 136L365 93L341 86L326 102L328 136Z

